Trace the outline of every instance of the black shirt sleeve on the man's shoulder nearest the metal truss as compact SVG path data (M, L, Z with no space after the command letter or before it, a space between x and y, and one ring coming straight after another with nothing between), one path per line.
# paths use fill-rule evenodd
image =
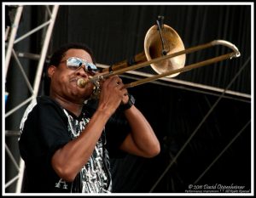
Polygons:
M20 134L20 155L26 161L47 163L55 151L70 141L67 117L53 101L39 101L27 116Z

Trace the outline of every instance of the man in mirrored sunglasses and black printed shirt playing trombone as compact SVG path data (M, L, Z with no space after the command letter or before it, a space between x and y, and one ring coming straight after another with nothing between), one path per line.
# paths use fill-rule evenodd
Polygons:
M78 43L62 46L47 71L49 96L34 99L20 123L24 192L108 193L109 156L160 153L154 130L119 76L102 79L95 109L84 103L95 94L94 83L78 85L79 79L88 81L97 73L90 48ZM117 112L125 121L115 122Z

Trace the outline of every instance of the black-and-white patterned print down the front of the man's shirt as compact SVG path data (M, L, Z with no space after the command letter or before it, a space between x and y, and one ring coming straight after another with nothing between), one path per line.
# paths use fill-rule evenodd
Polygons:
M79 137L90 119L83 113L76 118L64 110L68 119L68 132L72 139ZM104 133L104 132L103 132ZM79 173L79 185L84 193L109 193L111 191L111 175L109 171L108 151L105 149L106 139L104 134L98 140L89 161ZM77 185L74 184L74 185ZM76 188L77 189L77 186Z

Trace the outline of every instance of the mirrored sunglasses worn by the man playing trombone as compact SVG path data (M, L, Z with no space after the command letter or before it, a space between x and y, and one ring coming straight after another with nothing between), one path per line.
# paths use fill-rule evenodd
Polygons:
M79 70L82 67L82 65L85 66L85 71L89 71L89 72L97 71L96 65L88 62L85 59L70 57L67 60L63 60L61 62L64 62L64 61L67 61L67 68L73 71Z

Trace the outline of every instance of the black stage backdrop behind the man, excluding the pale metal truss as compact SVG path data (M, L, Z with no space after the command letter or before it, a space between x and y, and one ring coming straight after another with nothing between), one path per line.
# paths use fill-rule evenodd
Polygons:
M40 8L26 9L31 25L42 20ZM223 39L241 51L240 58L184 72L175 79L227 88L244 66L229 90L251 94L251 14L249 5L61 5L49 55L63 43L84 42L94 51L97 63L112 65L143 52L146 32L157 16L163 15L165 24L177 31L185 48ZM27 47L37 51L40 44L40 35L36 35ZM227 48L217 47L188 54L186 65L227 52ZM153 73L150 68L139 71ZM123 81L131 81L128 74ZM183 193L189 190L189 184L233 184L250 190L250 99L220 99L221 93L172 85L147 83L129 89L137 99L137 108L152 124L161 152L152 159L131 155L112 159L113 192Z

